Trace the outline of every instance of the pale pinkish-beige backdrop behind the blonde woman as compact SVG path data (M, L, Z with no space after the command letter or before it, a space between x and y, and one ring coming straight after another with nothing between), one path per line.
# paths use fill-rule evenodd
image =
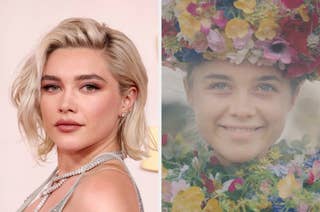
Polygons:
M23 143L16 111L9 100L10 84L18 65L39 39L64 18L91 17L126 33L136 44L149 75L147 118L159 127L160 73L157 62L158 1L111 0L0 0L0 211L15 211L49 175L56 163L39 166ZM142 192L146 211L160 211L160 178L127 161Z

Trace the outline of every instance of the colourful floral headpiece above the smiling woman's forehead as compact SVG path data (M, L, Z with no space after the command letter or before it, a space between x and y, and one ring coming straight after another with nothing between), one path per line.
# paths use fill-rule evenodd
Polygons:
M164 65L214 59L273 65L289 78L319 79L319 0L166 0Z

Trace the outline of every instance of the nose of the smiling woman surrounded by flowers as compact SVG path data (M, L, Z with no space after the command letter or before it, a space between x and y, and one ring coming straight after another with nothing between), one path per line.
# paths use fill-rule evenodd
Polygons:
M254 101L248 92L238 92L232 96L229 113L239 119L247 119L256 114Z

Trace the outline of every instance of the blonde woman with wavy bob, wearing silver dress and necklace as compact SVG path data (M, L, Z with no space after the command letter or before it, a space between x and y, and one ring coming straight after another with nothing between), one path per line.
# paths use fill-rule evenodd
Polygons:
M123 159L145 155L147 75L134 44L92 19L49 32L13 84L21 129L57 169L18 211L143 211Z

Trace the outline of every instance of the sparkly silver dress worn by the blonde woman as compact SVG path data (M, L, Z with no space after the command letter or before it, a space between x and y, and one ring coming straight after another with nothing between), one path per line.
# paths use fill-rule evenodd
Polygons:
M120 161L125 169L126 172L128 173L132 183L134 184L137 196L138 196L138 200L139 200L139 208L140 208L140 212L143 212L143 204L142 204L142 200L141 200L141 195L139 192L138 187L136 186L136 183L134 181L134 179L132 178L126 164L124 163L124 161L122 160L121 157L119 157L117 154L114 153L104 153L101 154L98 158L96 159L104 159L105 161L109 161L109 160L118 160ZM93 160L92 162L95 162L95 160ZM33 200L39 196L39 194L41 193L41 191L48 185L48 183L50 182L50 180L54 177L55 173L56 173L57 169L53 171L53 173L49 176L49 178L39 187L37 188L22 204L22 206L17 210L17 212L23 212L32 202ZM50 212L62 212L63 208L66 206L66 204L68 203L70 197L72 196L73 192L75 191L75 189L77 188L77 186L79 185L81 179L83 176L85 176L85 173L82 173L81 175L79 175L78 179L75 181L75 183L72 185L72 187L69 189L69 191L66 193L66 195L61 199L60 202L58 202L51 210Z

